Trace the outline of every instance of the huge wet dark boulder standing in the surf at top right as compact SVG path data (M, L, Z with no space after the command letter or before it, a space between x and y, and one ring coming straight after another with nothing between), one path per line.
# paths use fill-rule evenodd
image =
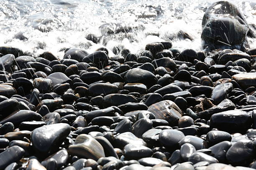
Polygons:
M228 1L213 3L202 19L202 44L208 50L248 48L246 37L256 37L243 14Z

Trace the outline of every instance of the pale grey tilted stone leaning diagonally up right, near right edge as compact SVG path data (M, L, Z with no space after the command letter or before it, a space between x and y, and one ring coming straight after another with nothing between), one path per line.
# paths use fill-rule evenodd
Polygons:
M214 104L217 105L227 98L228 93L233 90L233 84L231 82L217 85L212 90L211 98L214 101Z

